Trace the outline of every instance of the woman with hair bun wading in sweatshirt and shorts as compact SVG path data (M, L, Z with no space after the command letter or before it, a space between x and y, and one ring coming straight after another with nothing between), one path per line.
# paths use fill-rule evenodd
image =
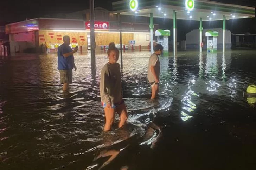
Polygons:
M117 63L119 51L114 43L109 44L108 57L109 62L101 70L100 81L101 102L106 117L104 131L111 129L111 125L115 119L115 112L120 116L119 128L127 120L126 105L124 104L122 95L120 65Z

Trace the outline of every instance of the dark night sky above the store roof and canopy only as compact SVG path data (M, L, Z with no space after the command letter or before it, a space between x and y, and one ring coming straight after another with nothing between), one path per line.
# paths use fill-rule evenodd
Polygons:
M111 2L118 0L95 0L95 7L102 6L111 10ZM256 6L256 0L212 0L223 3ZM161 0L160 0L161 2ZM65 13L89 8L89 0L1 0L0 21L21 21L37 18L46 14Z

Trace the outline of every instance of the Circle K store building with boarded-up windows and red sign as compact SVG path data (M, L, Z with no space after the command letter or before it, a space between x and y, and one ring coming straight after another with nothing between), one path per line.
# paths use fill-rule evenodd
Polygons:
M71 46L90 49L90 15L89 10L77 11L65 15L65 18L37 18L6 25L11 44L11 53L40 52L40 45L47 42L50 52L56 52L63 43L62 37L69 35ZM149 18L120 15L122 44L134 49L148 49ZM95 8L96 50L102 50L110 42L120 44L118 15L103 8ZM155 30L158 25L155 24ZM131 44L134 43L135 44Z

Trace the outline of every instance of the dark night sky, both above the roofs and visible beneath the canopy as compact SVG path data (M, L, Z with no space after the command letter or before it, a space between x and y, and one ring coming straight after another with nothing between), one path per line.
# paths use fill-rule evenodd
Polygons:
M17 22L23 21L26 18L38 18L47 14L57 13L69 13L74 11L80 11L83 9L89 9L89 0L79 1L63 1L63 0L1 0L0 3L0 23L2 22ZM94 0L95 7L101 6L105 9L111 10L111 3L118 0ZM223 2L244 6L256 6L256 0L211 0L216 2ZM161 3L161 0L159 0ZM158 21L162 29L171 29L172 20L170 19L154 19L154 23ZM165 22L162 22L165 20ZM164 23L164 24L163 24ZM192 29L198 29L197 21L183 21L178 20L177 24L180 28L183 28L178 33L180 39L184 39L184 33L190 32ZM221 28L222 21L216 21L211 23L203 23L204 28ZM256 33L256 25L254 19L242 19L242 20L229 20L227 21L227 29L233 33Z

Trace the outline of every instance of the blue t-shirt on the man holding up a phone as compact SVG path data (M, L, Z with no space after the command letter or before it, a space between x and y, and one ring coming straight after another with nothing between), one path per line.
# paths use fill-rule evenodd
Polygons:
M64 57L63 54L72 52L73 50L66 44L58 47L58 70L72 70L74 68L74 55Z

